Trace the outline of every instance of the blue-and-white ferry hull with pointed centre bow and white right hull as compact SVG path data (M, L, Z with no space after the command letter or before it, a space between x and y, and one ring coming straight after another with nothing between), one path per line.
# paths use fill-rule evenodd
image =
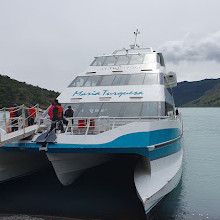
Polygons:
M98 135L60 134L47 156L60 182L69 185L115 154L140 155L134 182L147 213L181 178L181 135L180 119L133 122Z

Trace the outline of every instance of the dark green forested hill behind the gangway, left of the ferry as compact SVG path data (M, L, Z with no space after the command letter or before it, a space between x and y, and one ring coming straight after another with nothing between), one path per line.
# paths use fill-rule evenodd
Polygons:
M0 108L11 107L14 103L18 105L35 105L38 103L40 108L45 109L58 95L58 92L0 75Z

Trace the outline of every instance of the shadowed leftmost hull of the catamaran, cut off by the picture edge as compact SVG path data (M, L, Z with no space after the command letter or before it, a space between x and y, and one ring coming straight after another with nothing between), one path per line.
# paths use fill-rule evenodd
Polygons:
M48 166L43 154L28 152L0 152L0 182L25 176Z

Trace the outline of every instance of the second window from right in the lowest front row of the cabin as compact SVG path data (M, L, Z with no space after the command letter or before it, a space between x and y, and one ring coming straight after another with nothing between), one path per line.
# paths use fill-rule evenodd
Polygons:
M122 113L124 117L138 117L140 116L142 108L141 102L129 102L125 104L125 109Z

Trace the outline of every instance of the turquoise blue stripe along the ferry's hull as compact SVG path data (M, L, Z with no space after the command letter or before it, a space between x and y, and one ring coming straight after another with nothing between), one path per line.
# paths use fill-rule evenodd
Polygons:
M120 136L104 144L48 144L48 153L137 153L151 160L172 154L180 150L180 141L153 151L147 146L170 141L180 135L177 128L163 129L150 132L138 132ZM39 151L37 143L12 143L2 147L2 150Z

